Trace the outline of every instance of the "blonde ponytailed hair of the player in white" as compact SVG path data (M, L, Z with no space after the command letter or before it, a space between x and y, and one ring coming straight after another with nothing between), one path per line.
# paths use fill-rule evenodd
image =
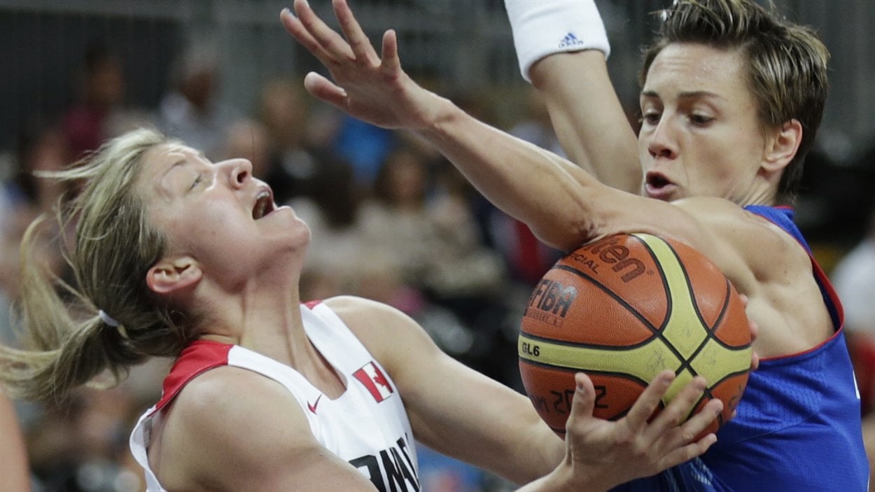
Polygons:
M191 334L180 313L151 292L146 273L165 255L165 236L151 228L135 191L144 154L170 140L155 130L134 130L103 144L77 165L42 177L81 184L59 208L61 230L75 222L66 251L76 286L45 271L29 252L39 240L39 217L21 244L22 298L16 313L21 348L0 347L0 382L12 397L60 399L105 371L117 383L149 356L179 355ZM59 292L72 294L66 302ZM99 310L118 321L107 324Z

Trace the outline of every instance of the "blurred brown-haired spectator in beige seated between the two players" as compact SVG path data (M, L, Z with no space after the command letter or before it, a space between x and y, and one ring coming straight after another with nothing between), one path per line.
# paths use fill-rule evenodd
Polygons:
M450 188L434 193L432 165L437 164L408 144L389 154L362 205L366 247L380 253L381 270L397 272L404 287L395 292L406 295L390 304L416 319L445 352L493 376L486 370L493 368L479 365L491 350L491 337L479 337L471 323L499 302L505 265L479 242L460 197L447 193ZM491 320L486 327L497 324Z

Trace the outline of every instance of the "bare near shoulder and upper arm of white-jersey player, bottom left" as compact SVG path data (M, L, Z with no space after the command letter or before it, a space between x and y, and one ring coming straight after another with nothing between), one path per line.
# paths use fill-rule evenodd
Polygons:
M318 442L297 400L267 377L210 369L167 411L161 446L149 453L168 490L373 490Z

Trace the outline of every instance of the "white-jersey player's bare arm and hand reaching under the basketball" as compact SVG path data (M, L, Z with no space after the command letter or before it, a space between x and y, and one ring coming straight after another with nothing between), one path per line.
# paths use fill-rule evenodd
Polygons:
M663 372L626 418L611 422L592 417L595 390L589 378L578 374L563 444L527 397L445 355L395 308L352 297L325 303L395 381L417 441L508 480L535 481L522 490L605 490L689 460L713 442L713 435L687 441L716 416L711 412L722 406L717 400L677 425L701 395L703 386L697 385L704 380L690 383L648 422L674 379L671 371Z

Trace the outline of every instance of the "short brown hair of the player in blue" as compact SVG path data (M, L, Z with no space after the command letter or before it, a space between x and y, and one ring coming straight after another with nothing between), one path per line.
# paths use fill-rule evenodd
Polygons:
M767 9L752 0L676 0L661 14L660 32L644 54L641 84L656 55L671 43L739 50L760 125L770 129L793 119L802 123L802 143L778 188L785 199L794 200L829 90L830 52L816 32L782 18L774 4Z

